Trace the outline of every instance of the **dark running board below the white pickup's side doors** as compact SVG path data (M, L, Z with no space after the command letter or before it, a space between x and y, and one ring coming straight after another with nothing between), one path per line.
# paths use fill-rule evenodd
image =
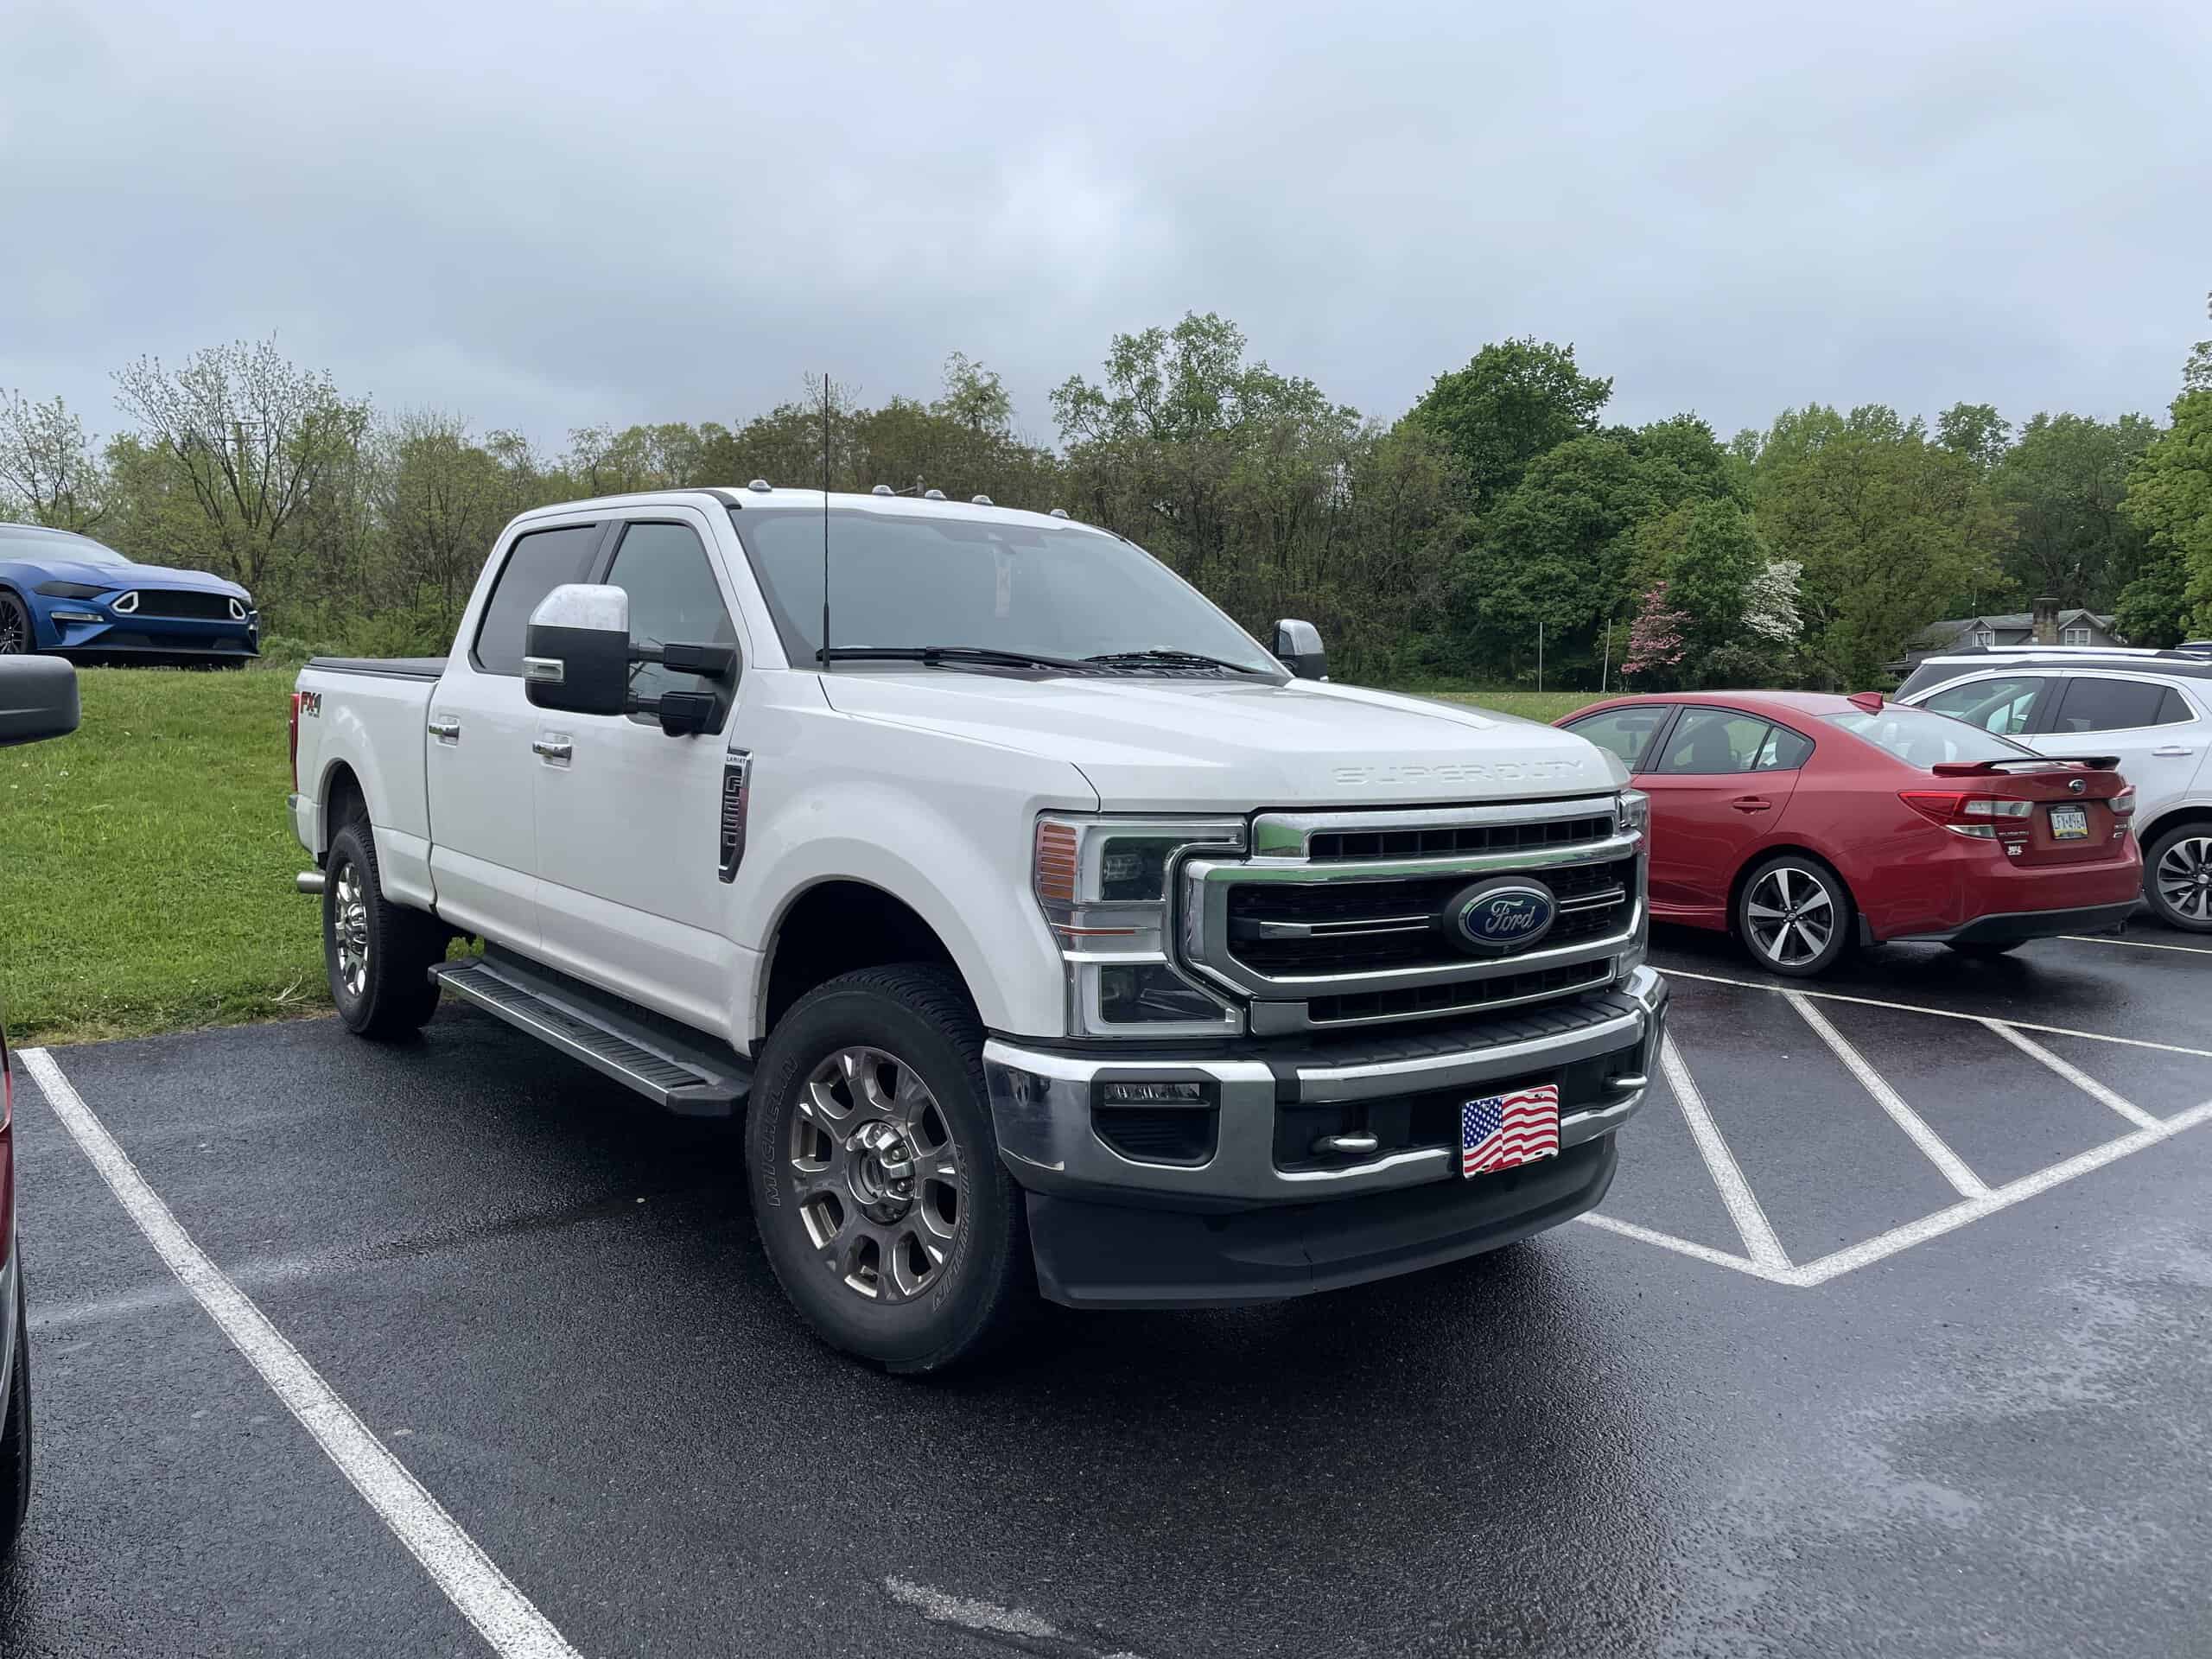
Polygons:
M717 1053L703 1035L684 1037L653 1015L619 1013L597 993L533 971L504 951L440 962L429 975L670 1113L732 1117L752 1088L752 1066L730 1048Z

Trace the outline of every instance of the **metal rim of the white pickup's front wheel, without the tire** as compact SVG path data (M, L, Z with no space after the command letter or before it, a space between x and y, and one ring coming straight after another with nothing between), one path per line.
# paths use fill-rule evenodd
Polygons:
M785 1150L816 1259L874 1303L933 1290L964 1221L962 1155L938 1097L883 1048L838 1048L799 1093Z

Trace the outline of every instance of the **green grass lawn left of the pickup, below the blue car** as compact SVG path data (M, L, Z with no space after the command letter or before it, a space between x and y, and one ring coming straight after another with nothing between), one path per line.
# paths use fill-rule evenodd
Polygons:
M86 668L75 737L0 750L0 989L15 1042L327 1006L292 891L292 675Z

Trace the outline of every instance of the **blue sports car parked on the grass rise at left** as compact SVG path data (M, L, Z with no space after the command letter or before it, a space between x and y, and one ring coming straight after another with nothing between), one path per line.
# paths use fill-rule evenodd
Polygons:
M261 613L237 582L133 564L91 535L0 524L0 657L217 664L261 655Z

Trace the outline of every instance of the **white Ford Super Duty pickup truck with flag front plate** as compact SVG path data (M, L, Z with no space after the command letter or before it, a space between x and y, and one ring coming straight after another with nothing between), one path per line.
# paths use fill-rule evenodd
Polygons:
M449 657L316 659L292 723L345 1024L445 991L743 1115L792 1303L902 1371L1035 1292L1252 1303L1557 1225L1659 1060L1613 757L1327 684L1312 626L1270 653L1060 511L540 509Z

